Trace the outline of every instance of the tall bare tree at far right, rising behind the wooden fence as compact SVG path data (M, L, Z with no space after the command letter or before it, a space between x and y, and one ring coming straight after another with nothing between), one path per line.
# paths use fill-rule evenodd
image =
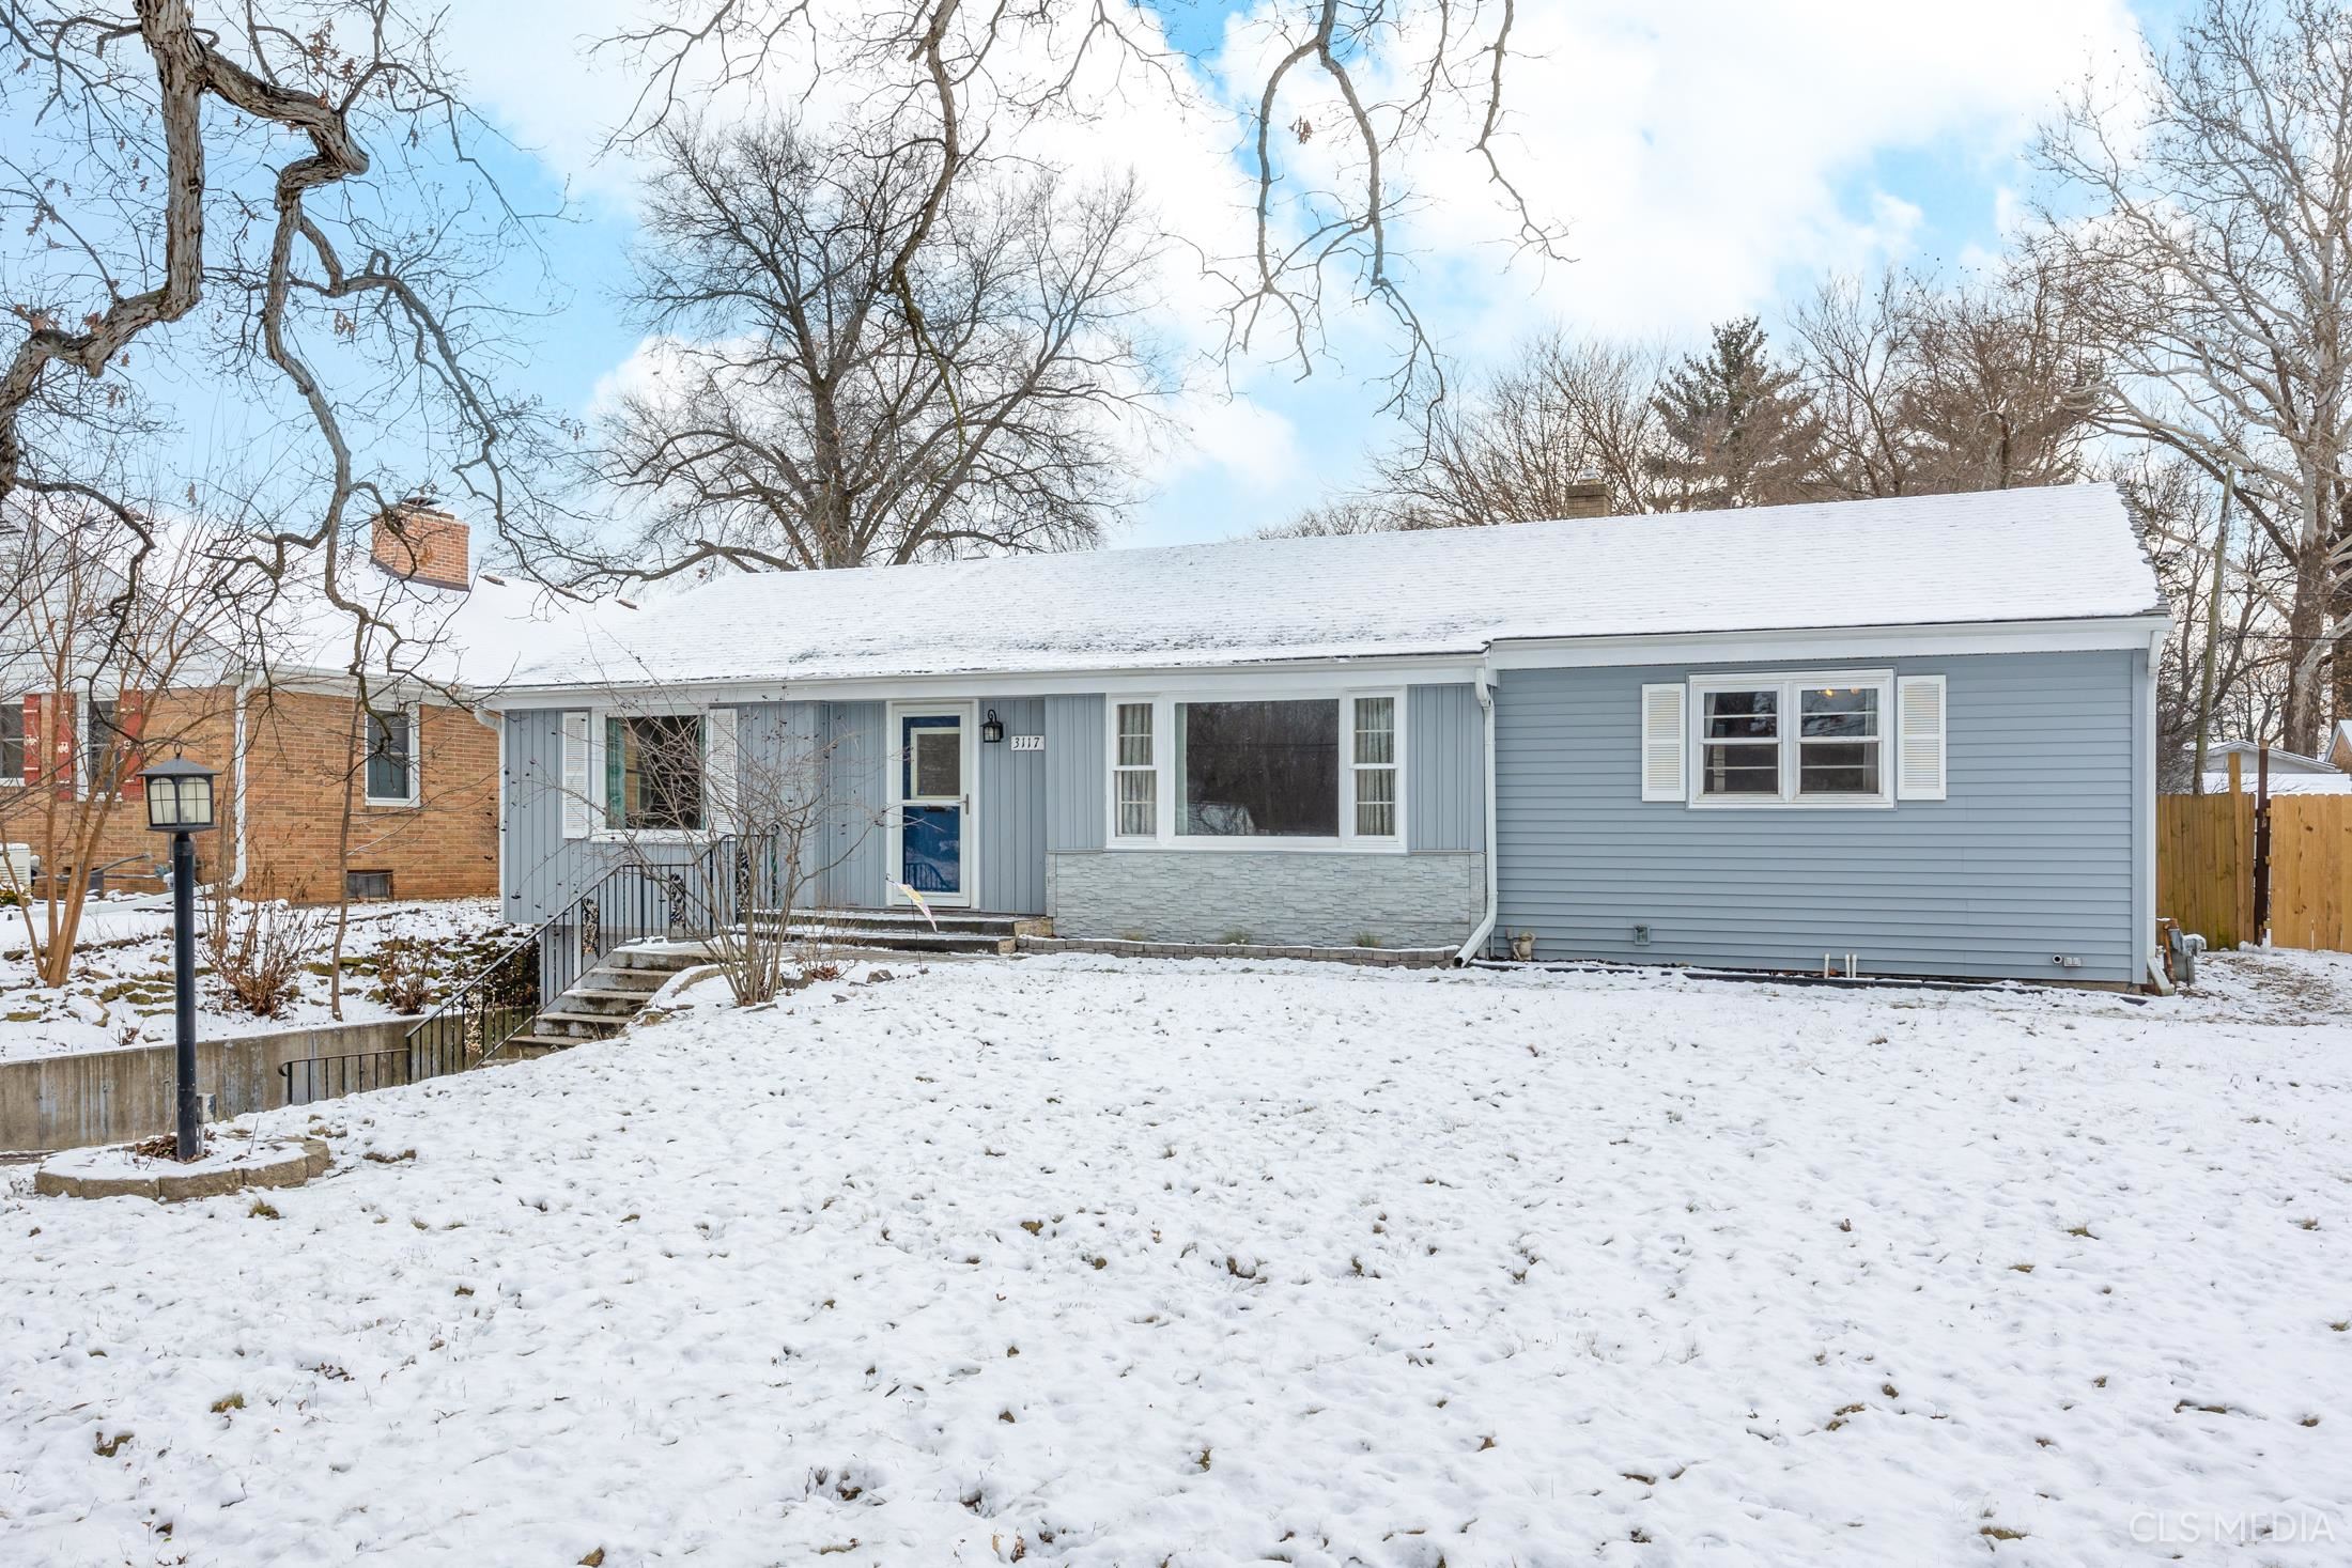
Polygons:
M2352 12L2204 0L2145 75L2042 134L2037 252L2114 362L2100 425L2234 468L2293 564L2284 741L2314 750L2331 656L2352 710Z

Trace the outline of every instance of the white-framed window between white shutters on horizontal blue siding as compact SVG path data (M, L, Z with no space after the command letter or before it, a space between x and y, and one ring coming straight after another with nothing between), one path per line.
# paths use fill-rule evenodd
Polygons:
M1693 698L1696 804L1884 804L1893 677L1703 677Z

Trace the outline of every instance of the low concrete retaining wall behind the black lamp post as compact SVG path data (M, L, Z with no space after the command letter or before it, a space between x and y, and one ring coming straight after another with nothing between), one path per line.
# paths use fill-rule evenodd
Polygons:
M270 1110L285 1103L285 1081L278 1077L282 1063L390 1051L414 1025L414 1018L390 1018L200 1039L195 1086L216 1095L221 1117ZM78 1150L92 1143L151 1138L172 1126L176 1084L172 1046L0 1063L0 1150Z

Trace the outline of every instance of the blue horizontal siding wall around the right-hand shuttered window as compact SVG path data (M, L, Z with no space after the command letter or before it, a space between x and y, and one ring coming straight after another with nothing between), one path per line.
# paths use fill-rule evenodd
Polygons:
M1555 959L1818 971L1853 952L1863 973L2138 983L2152 823L2136 820L2133 654L1893 668L1950 679L1947 799L1851 811L1642 802L1642 684L1726 665L1505 672L1496 945L1531 931Z

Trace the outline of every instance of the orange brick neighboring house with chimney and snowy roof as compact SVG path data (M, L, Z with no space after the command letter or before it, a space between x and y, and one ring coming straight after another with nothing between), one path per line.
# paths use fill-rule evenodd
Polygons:
M350 893L489 898L499 891L499 719L470 703L546 630L546 611L534 590L475 576L468 527L447 512L409 503L379 517L369 543L343 592L414 642L369 677L367 762L350 790ZM256 637L261 656L223 651L200 679L162 691L106 696L103 677L80 691L28 691L24 651L14 670L0 654L0 677L16 677L0 689L0 842L40 853L45 806L87 802L92 778L143 764L115 766L111 748L139 752L151 736L169 736L172 750L221 771L221 827L198 837L200 872L226 870L254 896L332 903L362 715L350 623L315 614L322 607L289 588ZM162 849L129 778L92 860L108 867L106 886L153 889Z

